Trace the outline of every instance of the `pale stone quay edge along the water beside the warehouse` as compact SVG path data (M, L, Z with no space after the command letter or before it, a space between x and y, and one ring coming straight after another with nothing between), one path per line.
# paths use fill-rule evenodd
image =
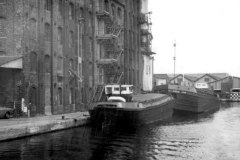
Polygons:
M75 112L32 118L0 119L0 141L83 126L87 124L88 118L88 112Z

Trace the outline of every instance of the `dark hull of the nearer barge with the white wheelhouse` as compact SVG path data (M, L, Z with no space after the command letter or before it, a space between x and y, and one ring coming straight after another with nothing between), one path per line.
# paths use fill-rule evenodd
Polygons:
M147 108L96 107L89 111L92 125L138 126L172 116L173 100Z

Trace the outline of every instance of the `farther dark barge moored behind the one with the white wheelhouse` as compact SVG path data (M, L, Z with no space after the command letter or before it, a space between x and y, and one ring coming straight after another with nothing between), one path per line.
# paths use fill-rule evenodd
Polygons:
M219 108L218 95L207 88L168 84L156 86L154 92L171 94L175 98L174 111L202 113Z

